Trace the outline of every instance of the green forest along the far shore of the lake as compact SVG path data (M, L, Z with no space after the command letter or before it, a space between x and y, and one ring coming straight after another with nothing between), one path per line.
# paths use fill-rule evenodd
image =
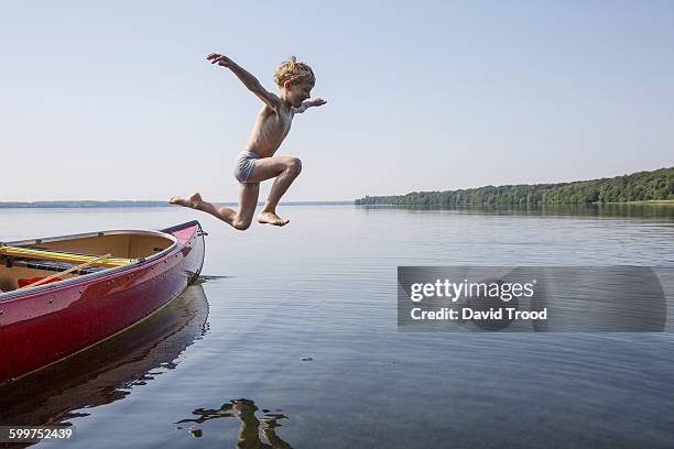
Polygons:
M520 184L461 190L412 191L396 196L366 196L357 199L356 205L524 206L649 200L674 200L674 167L573 183Z

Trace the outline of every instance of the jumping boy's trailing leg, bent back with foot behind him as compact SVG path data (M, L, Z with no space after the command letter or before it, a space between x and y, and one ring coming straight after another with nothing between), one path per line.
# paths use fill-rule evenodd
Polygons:
M244 230L250 227L250 222L252 221L252 216L256 212L259 194L260 184L241 184L241 188L239 189L238 212L228 207L204 201L204 199L202 199L202 196L198 193L192 194L187 198L173 197L168 200L168 202L202 210L231 225L236 229Z

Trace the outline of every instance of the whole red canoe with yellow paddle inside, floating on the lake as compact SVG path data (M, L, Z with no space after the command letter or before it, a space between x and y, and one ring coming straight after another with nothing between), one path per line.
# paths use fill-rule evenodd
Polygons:
M202 271L203 236L191 221L0 244L0 383L94 346L177 297Z

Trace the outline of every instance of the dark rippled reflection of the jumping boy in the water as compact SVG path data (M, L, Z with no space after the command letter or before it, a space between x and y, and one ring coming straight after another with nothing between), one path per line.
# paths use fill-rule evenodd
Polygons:
M287 419L287 416L282 414L267 413L262 417L264 428L262 432L269 445L260 439L260 420L256 416L258 407L256 403L249 399L233 399L230 404L224 404L218 409L197 408L193 413L200 415L196 419L182 419L176 424L196 423L202 424L208 419L237 417L239 418L239 435L237 439L237 448L241 449L292 449L292 446L283 441L276 435L276 427L281 425L279 419ZM178 427L180 428L180 427ZM200 429L191 429L189 432L195 437L202 436Z

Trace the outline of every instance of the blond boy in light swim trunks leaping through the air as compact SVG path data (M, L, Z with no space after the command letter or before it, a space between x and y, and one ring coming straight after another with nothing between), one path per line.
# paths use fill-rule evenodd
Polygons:
M274 81L279 86L279 95L267 91L260 81L225 55L211 53L206 56L211 64L227 67L253 92L264 106L258 113L252 133L243 151L235 163L235 177L240 183L239 210L219 207L204 201L196 193L187 198L173 197L168 202L193 209L203 210L244 230L250 227L258 204L260 182L275 177L264 208L258 215L258 222L284 226L290 222L276 215L276 205L281 196L300 175L302 163L296 157L274 156L281 142L290 131L293 117L308 108L325 105L326 101L309 98L309 92L316 83L314 72L304 63L297 63L295 56L276 68Z

